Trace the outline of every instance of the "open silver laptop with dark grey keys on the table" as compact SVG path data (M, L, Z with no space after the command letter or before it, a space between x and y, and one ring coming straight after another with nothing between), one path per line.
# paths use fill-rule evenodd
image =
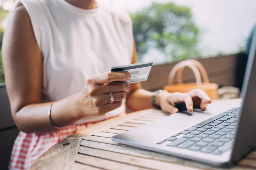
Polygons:
M210 104L206 111L172 114L117 134L112 140L214 166L230 166L256 147L256 29L241 106Z

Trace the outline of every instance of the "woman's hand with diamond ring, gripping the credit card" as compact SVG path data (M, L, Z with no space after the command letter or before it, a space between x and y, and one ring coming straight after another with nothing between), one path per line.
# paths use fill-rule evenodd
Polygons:
M88 78L78 100L80 115L101 116L122 105L130 86L124 82L130 80L129 73L107 72ZM114 102L110 103L110 93Z

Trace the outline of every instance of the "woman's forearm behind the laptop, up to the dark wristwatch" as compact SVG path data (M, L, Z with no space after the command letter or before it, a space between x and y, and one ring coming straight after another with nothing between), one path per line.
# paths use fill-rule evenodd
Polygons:
M128 96L126 105L133 111L153 108L151 104L151 98L153 95L153 92L149 92L141 88L137 89ZM159 104L158 97L156 97L156 104Z

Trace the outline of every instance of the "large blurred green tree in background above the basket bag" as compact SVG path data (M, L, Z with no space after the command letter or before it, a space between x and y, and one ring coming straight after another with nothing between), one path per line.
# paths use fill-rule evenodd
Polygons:
M200 30L190 7L152 3L130 16L139 60L152 48L163 52L167 62L200 56Z

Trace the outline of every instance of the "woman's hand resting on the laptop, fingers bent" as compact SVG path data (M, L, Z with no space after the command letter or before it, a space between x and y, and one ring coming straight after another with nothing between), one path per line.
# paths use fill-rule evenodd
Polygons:
M188 93L159 93L156 97L156 103L161 107L164 112L171 114L179 112L175 107L175 103L185 103L189 112L193 111L193 106L200 106L205 110L207 104L211 103L209 96L202 90L196 89Z

